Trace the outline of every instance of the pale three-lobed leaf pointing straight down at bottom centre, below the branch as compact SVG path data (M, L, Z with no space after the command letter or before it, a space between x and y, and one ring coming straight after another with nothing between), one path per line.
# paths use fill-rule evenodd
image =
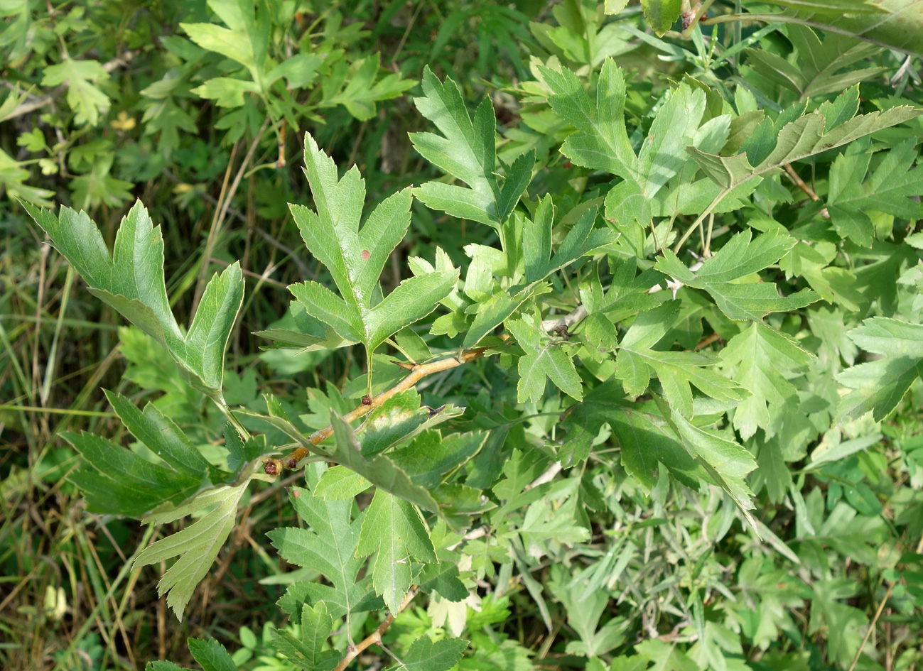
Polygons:
M377 489L366 509L355 554L376 553L372 583L392 613L398 612L410 589L411 562L436 562L436 550L426 524L414 505Z

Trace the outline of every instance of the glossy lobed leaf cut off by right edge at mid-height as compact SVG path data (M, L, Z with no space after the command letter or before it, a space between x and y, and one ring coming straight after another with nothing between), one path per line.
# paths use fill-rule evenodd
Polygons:
M879 422L923 375L923 326L875 317L866 319L848 335L860 349L883 357L854 365L836 377L854 389L840 401L836 421L872 411L872 417Z

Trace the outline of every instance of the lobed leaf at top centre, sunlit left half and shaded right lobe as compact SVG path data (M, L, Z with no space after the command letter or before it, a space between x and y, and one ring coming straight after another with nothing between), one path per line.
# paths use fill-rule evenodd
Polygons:
M510 166L501 163L506 174L501 186L495 150L497 117L490 100L478 105L472 119L458 84L450 78L440 82L429 66L423 74L423 92L414 104L442 135L411 133L414 149L468 186L427 182L414 189L414 194L434 210L499 229L532 180L534 150L521 154Z

